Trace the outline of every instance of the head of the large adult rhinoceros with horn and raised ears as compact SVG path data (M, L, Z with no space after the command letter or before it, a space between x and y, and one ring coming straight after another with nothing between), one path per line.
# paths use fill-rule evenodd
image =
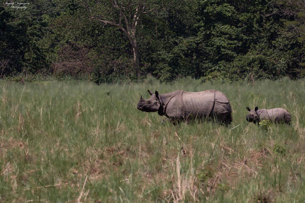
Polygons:
M148 92L151 95L151 97L149 99L145 100L142 98L142 95L141 95L137 108L140 111L156 112L159 110L159 108L161 106L159 98L158 98L159 93L158 93L158 91L156 91L155 94L152 94L152 92L149 90L148 90Z

